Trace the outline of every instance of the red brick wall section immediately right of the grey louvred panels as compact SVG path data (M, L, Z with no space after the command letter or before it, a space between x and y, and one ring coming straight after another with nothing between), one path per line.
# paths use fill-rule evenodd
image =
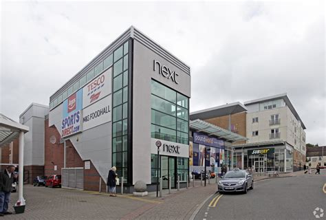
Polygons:
M107 170L109 173L109 170ZM106 184L103 179L101 179L101 192L106 191ZM89 170L84 169L84 190L98 191L100 188L100 175L96 170L95 166L91 162L91 168Z

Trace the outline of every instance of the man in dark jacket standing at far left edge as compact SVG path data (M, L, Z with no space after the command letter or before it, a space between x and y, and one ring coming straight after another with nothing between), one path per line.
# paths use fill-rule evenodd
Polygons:
M12 214L12 212L8 212L8 204L12 183L17 179L17 175L14 174L14 169L14 165L9 165L5 170L0 172L0 216Z

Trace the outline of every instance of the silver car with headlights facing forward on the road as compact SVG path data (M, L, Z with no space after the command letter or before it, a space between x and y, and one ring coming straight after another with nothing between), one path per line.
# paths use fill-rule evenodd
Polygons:
M220 193L223 192L244 192L247 193L248 188L254 188L254 179L246 170L235 168L230 170L221 177L217 183L217 188Z

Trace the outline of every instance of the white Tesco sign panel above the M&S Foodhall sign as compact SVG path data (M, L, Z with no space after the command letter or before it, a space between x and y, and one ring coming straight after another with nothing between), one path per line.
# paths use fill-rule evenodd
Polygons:
M98 75L83 87L83 109L111 94L112 68Z

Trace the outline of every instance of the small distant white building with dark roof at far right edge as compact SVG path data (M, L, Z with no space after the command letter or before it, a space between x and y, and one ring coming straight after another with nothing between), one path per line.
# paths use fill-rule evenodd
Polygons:
M317 164L326 167L326 146L307 147L306 165L316 168Z

